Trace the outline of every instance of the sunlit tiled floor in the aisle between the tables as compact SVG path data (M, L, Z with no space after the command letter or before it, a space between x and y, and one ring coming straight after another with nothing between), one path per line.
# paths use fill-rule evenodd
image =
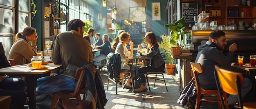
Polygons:
M101 78L106 90L108 72L101 73ZM162 77L159 76L159 78ZM168 91L166 91L164 81L157 81L155 88L153 88L154 80L149 79L151 92L148 90L143 93L133 93L118 85L117 95L115 84L110 81L110 86L106 91L108 102L105 109L185 109L177 103L179 98L179 80L177 77L164 74L164 78Z

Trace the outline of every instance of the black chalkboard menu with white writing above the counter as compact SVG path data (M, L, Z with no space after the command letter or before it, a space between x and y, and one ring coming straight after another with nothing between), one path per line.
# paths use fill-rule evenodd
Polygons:
M194 16L198 15L198 2L182 2L182 17L185 16L186 27L195 25Z

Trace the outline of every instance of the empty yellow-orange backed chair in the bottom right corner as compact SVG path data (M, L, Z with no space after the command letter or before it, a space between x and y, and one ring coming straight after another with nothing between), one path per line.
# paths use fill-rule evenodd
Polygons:
M242 96L241 96L241 89L243 88L243 84L245 78L243 77L242 73L233 72L229 70L222 69L215 65L216 72L214 73L217 87L219 92L223 90L228 94L233 94L238 96L238 102L241 109L256 109L256 102L246 102L243 103ZM219 95L222 97L222 95ZM229 107L221 100L223 109L229 109ZM226 105L226 107L224 106Z

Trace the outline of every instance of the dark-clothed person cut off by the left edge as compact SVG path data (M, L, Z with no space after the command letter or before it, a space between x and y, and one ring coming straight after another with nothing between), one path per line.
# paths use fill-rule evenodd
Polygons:
M11 67L4 53L4 47L0 42L0 69ZM7 75L0 76L0 96L11 96L10 109L24 109L27 94L25 93L26 82L22 78L9 78Z

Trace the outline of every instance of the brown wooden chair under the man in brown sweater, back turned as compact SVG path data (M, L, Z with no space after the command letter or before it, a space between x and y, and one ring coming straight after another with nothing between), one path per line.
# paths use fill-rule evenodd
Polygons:
M53 94L51 109L54 109L56 107L56 104L59 101L59 98L76 98L77 96L79 96L80 98L80 94L85 93L86 88L82 89L82 86L84 85L84 79L85 79L85 68L79 68L76 70L76 78L78 80L77 80L74 91L60 91L60 92L55 92Z

